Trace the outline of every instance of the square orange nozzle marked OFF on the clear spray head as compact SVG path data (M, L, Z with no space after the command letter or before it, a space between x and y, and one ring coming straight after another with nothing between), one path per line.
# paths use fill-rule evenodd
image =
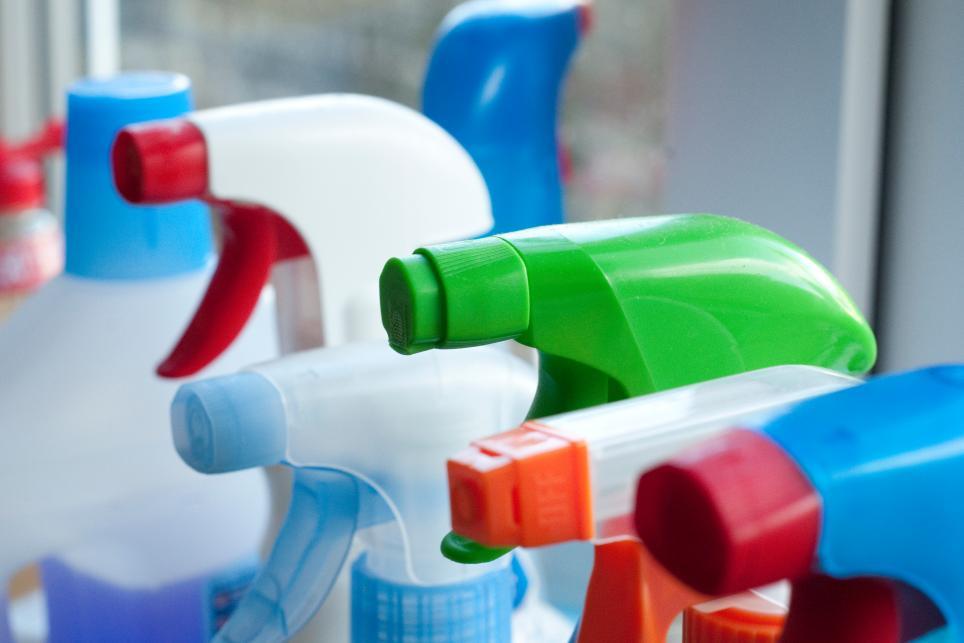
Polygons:
M593 537L586 445L535 422L448 461L452 529L488 547Z

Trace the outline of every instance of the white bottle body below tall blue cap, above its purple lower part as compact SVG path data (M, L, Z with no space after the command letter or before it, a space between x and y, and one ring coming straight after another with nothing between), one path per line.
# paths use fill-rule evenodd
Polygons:
M178 382L154 374L209 270L156 280L62 275L0 326L0 578L40 557L154 588L257 550L263 474L198 474L171 444ZM276 353L273 295L212 367Z

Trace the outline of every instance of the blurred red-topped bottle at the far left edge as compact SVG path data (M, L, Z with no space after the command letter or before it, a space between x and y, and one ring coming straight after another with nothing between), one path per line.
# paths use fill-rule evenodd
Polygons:
M0 303L22 298L63 269L63 235L43 207L41 163L63 147L63 138L63 123L52 120L18 145L0 140Z

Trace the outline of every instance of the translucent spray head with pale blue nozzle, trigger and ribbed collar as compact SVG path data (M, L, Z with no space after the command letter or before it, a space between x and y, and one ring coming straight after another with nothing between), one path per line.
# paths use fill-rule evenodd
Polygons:
M511 640L509 559L475 569L438 551L450 523L443 463L466 437L521 420L535 373L494 347L419 357L356 343L178 392L174 440L191 466L297 467L289 518L222 640L291 636L345 563L356 643ZM356 533L363 553L351 561Z

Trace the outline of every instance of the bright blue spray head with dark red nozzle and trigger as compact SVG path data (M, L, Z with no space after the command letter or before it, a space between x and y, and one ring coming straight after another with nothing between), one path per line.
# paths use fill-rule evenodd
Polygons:
M962 417L954 365L736 424L640 478L637 530L701 591L793 580L784 641L960 640Z

